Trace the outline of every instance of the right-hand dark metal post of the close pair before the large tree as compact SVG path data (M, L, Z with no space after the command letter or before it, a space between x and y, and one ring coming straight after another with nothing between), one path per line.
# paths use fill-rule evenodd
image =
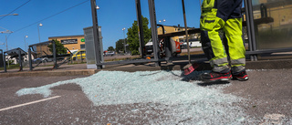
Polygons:
M150 13L150 22L151 22L151 38L153 42L153 54L154 60L159 59L159 50L158 50L158 36L157 36L157 22L156 22L156 13L154 0L148 0L149 13ZM155 62L155 67L159 67L161 62Z

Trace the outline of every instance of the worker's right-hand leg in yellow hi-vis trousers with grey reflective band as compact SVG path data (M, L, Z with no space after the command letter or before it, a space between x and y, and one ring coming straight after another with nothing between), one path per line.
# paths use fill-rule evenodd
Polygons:
M241 0L235 1L235 10L227 19L224 33L227 39L227 49L230 57L233 78L247 80L245 71L245 46L242 38ZM237 3L237 4L236 4Z

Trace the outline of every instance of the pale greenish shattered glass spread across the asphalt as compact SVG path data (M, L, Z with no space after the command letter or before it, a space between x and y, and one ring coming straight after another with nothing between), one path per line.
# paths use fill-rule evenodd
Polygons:
M206 72L206 71L204 71ZM194 71L194 75L203 71ZM202 87L201 81L183 81L182 71L99 71L88 78L59 81L50 85L20 89L18 96L42 94L45 98L51 88L68 83L78 84L95 107L137 105L129 112L119 112L124 118L107 118L111 123L119 119L139 118L149 124L241 124L255 123L245 109L235 106L245 99L224 94L224 86ZM141 115L141 111L143 115ZM128 117L127 114L131 114ZM135 115L137 114L137 115ZM107 114L104 114L107 115ZM156 117L152 117L156 116ZM139 123L139 122L138 122Z

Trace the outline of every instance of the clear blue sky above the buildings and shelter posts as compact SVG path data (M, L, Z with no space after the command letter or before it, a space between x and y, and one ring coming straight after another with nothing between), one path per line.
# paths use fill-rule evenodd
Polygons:
M199 27L199 0L184 2L187 25ZM122 28L126 28L126 34L134 20L137 20L135 0L97 0L97 5L100 7L98 21L103 36L103 48L115 47L115 42L124 38ZM75 7L71 8L72 6ZM165 19L163 25L184 26L181 0L155 0L155 7L157 22ZM141 0L141 11L142 16L150 17L148 0ZM19 16L2 16L11 12ZM25 36L28 36L27 45L38 43L39 23L43 24L39 26L41 42L47 41L49 36L83 35L83 28L92 26L90 1L0 0L0 31L14 31L12 34L0 34L0 49L6 50L5 36L8 49L25 49Z

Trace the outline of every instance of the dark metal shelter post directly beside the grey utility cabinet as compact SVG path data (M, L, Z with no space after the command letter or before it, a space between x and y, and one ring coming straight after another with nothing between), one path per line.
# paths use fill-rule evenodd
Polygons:
M101 64L101 53L100 53L100 44L99 44L99 24L98 24L98 14L96 9L96 0L90 0L91 4L91 14L92 14L92 24L93 24L93 36L94 36L94 45L95 45L95 58L96 65L98 69L102 68Z

